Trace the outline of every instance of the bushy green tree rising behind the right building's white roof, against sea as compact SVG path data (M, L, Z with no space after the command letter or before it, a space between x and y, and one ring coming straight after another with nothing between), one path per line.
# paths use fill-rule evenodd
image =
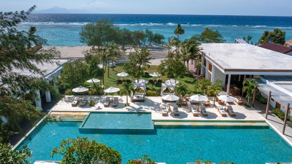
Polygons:
M213 31L206 27L205 31L201 34L196 34L191 37L201 43L224 43L226 40L223 39L223 36L218 32L218 30Z

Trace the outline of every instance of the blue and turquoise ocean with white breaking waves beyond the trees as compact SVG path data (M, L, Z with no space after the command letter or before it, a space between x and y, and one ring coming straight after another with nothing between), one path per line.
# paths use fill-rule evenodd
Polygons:
M48 46L84 46L79 41L81 27L98 19L113 19L120 28L146 29L163 34L165 40L174 36L177 23L185 34L181 39L200 34L206 27L218 30L232 43L235 38L252 36L255 43L265 30L280 28L286 40L292 39L292 17L234 16L234 15L151 15L151 14L31 14L27 22L18 25L21 30L37 27L37 34L48 41Z

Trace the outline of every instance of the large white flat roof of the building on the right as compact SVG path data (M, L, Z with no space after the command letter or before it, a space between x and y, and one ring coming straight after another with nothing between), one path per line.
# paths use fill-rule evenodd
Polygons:
M251 44L202 43L201 47L224 72L292 72L292 56Z

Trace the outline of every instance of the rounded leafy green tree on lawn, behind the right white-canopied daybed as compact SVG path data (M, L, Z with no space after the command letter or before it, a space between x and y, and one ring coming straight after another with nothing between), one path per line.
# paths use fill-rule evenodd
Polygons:
M186 71L187 67L178 58L161 60L161 63L157 67L157 72L161 75L166 75L168 79L173 76L174 80L184 75Z

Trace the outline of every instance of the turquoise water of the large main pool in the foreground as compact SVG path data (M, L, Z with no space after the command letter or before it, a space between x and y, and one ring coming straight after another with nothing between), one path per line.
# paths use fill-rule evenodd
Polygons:
M54 146L69 137L88 137L107 144L119 151L123 163L144 154L157 162L185 164L196 158L234 161L236 164L260 164L265 162L291 162L292 148L270 128L244 128L220 126L158 126L143 134L115 134L108 130L102 134L80 133L81 122L41 124L19 147L27 144L32 159L60 160L50 158Z

